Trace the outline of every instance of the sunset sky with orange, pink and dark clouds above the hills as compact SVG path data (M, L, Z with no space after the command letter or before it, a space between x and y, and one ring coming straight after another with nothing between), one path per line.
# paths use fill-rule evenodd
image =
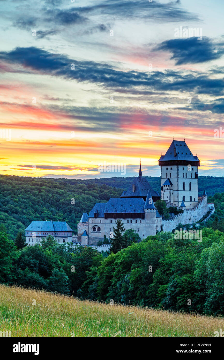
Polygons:
M224 176L223 0L0 0L0 174Z

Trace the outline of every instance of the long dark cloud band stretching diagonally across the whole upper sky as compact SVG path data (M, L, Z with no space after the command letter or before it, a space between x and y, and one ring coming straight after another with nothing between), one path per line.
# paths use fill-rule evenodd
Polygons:
M77 61L66 55L49 53L35 47L16 48L12 51L1 51L0 60L20 64L27 71L59 76L68 80L88 81L110 88L144 87L147 91L195 91L197 94L223 94L223 79L209 78L197 72L164 72L121 71L112 66L93 61ZM72 64L75 68L72 69ZM8 71L11 71L10 68ZM15 71L13 67L13 71ZM20 69L19 69L20 71Z

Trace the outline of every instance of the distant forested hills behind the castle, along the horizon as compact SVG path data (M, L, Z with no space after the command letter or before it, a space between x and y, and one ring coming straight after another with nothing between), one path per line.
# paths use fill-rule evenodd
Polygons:
M0 175L0 224L5 225L12 238L32 220L67 221L77 234L83 212L88 213L96 202L106 202L110 196L120 197L133 179L76 180ZM160 177L146 176L146 179L160 192ZM199 176L199 195L204 188L208 195L224 192L224 177Z

